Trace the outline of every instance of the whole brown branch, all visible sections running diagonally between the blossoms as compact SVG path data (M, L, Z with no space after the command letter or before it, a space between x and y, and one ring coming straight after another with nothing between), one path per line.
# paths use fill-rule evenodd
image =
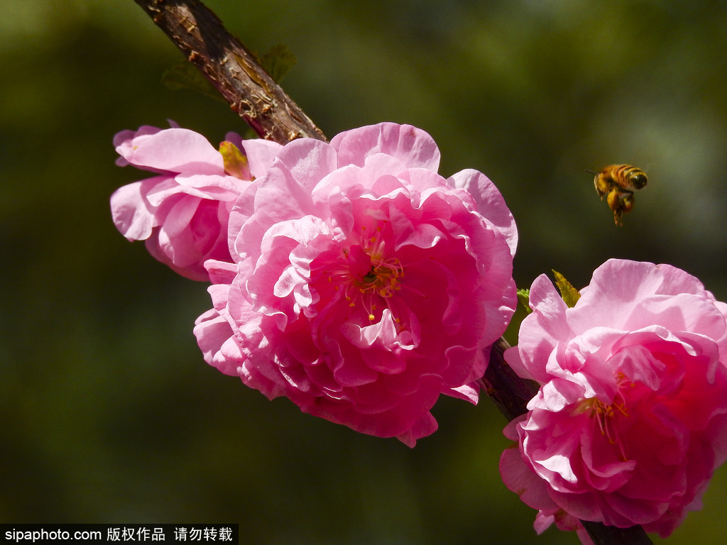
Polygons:
M300 137L326 140L250 53L198 0L134 0L193 62L215 89L260 137L286 144ZM538 386L521 379L505 363L505 339L492 347L481 383L497 408L512 420L527 413ZM651 545L643 528L615 528L582 521L595 545Z

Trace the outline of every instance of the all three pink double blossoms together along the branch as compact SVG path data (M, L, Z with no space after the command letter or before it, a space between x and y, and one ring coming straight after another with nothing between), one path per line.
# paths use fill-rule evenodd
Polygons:
M211 283L204 360L270 399L414 446L440 395L478 401L515 308L517 231L494 184L445 179L413 126L330 142L143 126L117 163L153 176L113 221L172 270ZM727 304L670 265L612 259L568 307L545 275L507 363L539 383L505 428L508 488L535 528L579 520L669 535L727 458Z

